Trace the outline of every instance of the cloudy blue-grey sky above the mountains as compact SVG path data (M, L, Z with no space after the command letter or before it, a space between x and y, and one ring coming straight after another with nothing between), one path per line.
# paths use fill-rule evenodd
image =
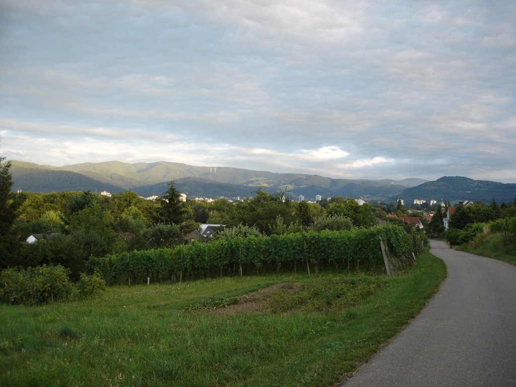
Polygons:
M0 0L0 155L516 183L516 2Z

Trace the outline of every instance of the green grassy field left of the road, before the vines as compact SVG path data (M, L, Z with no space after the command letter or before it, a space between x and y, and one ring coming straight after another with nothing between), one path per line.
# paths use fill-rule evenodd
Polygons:
M331 386L396 335L445 276L425 253L392 278L264 275L0 305L0 385Z

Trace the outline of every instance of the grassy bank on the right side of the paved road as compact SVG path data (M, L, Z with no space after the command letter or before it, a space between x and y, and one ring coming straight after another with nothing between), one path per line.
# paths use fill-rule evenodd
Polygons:
M516 265L516 242L504 243L504 236L500 233L480 235L470 243L454 248Z

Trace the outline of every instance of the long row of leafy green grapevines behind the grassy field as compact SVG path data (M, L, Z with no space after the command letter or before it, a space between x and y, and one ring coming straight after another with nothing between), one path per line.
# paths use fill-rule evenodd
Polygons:
M245 226L242 226L245 228ZM316 268L333 268L346 265L355 268L373 268L383 265L380 233L385 246L399 260L412 262L411 253L418 251L419 241L402 228L385 225L375 229L350 231L314 231L271 236L248 234L211 243L180 245L173 250L157 249L111 254L91 258L88 272L99 269L109 282L120 278L151 277L153 280L176 278L176 274L189 271L190 276L204 271L230 272L244 266L255 273L257 269L295 267L297 262Z

